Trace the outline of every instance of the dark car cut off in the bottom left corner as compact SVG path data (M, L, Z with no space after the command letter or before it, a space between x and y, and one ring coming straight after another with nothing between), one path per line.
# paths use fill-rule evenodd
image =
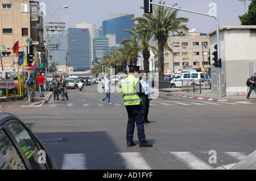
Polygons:
M0 112L0 170L57 170L39 138L18 117Z

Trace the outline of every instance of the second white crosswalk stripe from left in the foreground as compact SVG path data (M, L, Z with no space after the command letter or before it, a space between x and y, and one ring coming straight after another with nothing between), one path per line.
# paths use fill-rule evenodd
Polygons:
M118 154L123 158L127 170L151 170L151 167L138 152Z

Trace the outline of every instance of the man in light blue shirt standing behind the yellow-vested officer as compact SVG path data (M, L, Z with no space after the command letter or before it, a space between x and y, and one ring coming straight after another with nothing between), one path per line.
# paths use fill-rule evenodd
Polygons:
M141 82L141 85L145 91L145 94L142 97L142 100L143 100L142 108L144 110L144 124L147 124L147 123L151 123L150 121L148 121L148 118L147 118L148 110L150 107L150 85L147 81L147 73L143 74L142 79L139 82Z

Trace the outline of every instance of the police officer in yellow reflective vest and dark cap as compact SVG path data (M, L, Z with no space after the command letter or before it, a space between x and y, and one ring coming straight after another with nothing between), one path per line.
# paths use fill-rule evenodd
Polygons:
M137 125L139 146L152 147L146 141L144 133L144 111L142 109L142 96L144 90L138 80L139 66L129 65L129 75L121 84L121 91L123 94L123 103L128 113L128 123L126 129L127 146L135 146L133 141L133 134L135 123Z

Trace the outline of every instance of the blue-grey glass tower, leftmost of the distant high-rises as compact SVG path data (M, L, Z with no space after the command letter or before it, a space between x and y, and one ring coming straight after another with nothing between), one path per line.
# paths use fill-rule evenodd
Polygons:
M73 71L85 71L90 69L90 39L88 28L68 28L68 65ZM73 42L76 40L75 42Z

